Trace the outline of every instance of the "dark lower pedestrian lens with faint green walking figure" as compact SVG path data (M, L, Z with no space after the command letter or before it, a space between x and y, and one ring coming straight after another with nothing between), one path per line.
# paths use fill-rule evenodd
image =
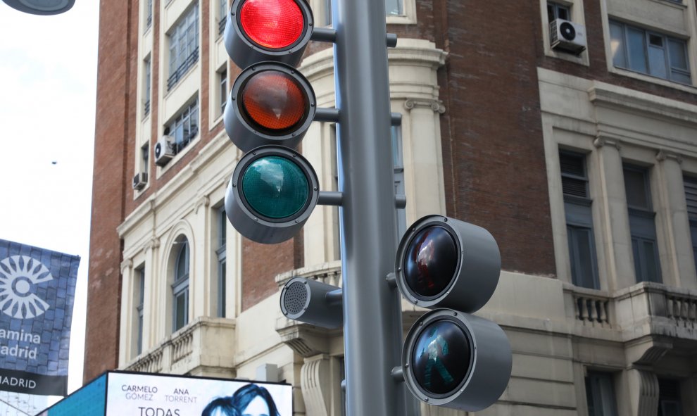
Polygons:
M470 341L449 320L427 324L411 354L417 384L428 393L446 395L459 389L470 370Z

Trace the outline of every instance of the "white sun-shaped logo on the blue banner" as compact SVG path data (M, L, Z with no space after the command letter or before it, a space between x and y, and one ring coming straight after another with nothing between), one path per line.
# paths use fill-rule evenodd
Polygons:
M0 310L5 315L27 319L42 315L50 306L32 293L32 286L54 277L38 260L11 256L0 260Z

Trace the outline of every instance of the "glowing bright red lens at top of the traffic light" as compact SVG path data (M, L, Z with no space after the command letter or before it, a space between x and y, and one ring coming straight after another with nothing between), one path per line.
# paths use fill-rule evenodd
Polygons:
M305 30L305 17L295 0L247 0L239 21L252 42L268 49L291 46Z

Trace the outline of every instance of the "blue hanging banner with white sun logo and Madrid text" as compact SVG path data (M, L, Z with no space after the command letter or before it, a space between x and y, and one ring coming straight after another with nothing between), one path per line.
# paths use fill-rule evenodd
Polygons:
M79 256L0 239L0 390L68 393Z

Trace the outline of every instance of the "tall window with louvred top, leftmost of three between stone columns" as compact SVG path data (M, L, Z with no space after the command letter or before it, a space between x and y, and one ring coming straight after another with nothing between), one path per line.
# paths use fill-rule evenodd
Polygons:
M600 289L593 235L592 200L589 198L586 158L579 153L560 152L562 191L569 244L571 279L576 286Z

